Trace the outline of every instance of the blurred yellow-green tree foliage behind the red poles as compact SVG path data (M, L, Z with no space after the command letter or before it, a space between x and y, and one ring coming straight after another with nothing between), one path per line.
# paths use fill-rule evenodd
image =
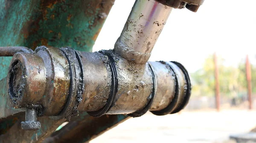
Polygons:
M245 60L239 67L225 66L224 59L218 57L219 86L221 95L236 97L247 94ZM256 66L251 65L252 85L256 85ZM202 69L191 74L193 96L213 96L215 94L215 66L213 56L209 56ZM256 88L253 88L256 92Z

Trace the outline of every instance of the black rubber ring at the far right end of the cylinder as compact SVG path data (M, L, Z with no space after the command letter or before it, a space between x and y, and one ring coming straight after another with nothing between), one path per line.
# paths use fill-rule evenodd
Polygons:
M189 73L187 72L185 67L181 63L178 63L175 61L171 61L171 63L174 63L175 65L177 65L181 69L181 71L184 73L186 85L187 85L186 94L185 94L183 102L177 109L175 109L172 113L170 113L170 114L175 114L177 112L180 112L188 104L189 98L191 96L191 83L190 83L190 79L189 79Z

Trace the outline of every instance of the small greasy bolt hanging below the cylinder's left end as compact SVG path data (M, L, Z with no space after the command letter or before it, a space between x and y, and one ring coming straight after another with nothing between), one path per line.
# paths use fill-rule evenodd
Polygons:
M23 130L38 130L41 128L41 123L37 121L36 109L26 109L26 121L21 122Z

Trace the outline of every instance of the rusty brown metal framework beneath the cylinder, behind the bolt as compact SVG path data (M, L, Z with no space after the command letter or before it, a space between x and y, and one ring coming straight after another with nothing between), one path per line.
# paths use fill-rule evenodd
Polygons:
M39 117L42 128L38 131L24 131L21 129L20 120L9 129L9 132L0 136L0 143L84 143L122 123L129 117L124 115L104 115L92 117L82 112L78 117L73 117L66 126L56 131L57 127L65 120L52 120L49 117ZM54 142L53 142L54 141Z

